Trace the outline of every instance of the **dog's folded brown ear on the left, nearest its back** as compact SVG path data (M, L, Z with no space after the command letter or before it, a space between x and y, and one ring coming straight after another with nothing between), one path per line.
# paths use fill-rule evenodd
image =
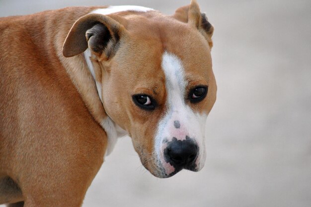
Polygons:
M113 17L113 18L112 18ZM118 16L88 14L79 18L63 45L63 55L73 57L89 48L101 59L109 59L117 51L119 40L126 33L120 23L125 19Z

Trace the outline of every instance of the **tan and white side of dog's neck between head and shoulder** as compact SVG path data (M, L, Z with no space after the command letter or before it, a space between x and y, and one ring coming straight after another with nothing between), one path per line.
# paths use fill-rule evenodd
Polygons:
M89 50L84 54L65 58L61 53L62 45L57 47L59 59L77 88L85 106L94 120L106 132L108 144L105 155L109 155L116 144L117 138L126 135L127 132L118 126L106 113L102 103L101 84L99 81L96 83L96 77L98 76L96 76L92 61L89 58Z

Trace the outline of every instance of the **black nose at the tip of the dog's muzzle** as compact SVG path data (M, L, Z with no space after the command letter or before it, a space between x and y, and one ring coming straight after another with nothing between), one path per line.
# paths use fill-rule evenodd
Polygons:
M194 163L197 158L198 145L187 137L185 140L173 140L164 150L166 162L173 166L185 167Z

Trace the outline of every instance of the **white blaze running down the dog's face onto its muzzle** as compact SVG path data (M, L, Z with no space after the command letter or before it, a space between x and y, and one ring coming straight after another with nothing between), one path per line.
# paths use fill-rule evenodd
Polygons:
M188 83L185 80L181 60L173 54L164 52L161 66L165 74L167 111L157 126L155 137L157 157L165 168L167 166L163 157L165 143L171 141L173 137L177 140L184 140L186 136L189 136L199 146L197 170L200 170L204 165L206 156L204 136L207 114L196 113L185 103L187 96L185 90ZM179 121L180 126L178 128L174 126L174 121Z

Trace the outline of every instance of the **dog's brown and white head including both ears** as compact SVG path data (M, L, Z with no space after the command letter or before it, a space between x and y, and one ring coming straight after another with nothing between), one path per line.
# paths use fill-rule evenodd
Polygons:
M205 122L216 100L213 30L192 1L171 16L86 15L64 44L67 57L91 52L106 113L156 177L204 166Z

